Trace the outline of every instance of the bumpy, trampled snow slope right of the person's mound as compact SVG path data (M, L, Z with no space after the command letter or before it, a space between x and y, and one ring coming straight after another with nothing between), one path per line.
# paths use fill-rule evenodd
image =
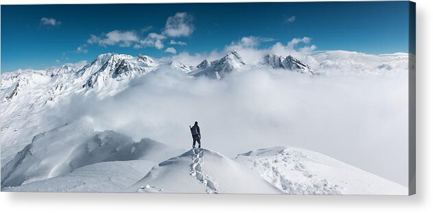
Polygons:
M408 195L405 186L305 149L257 149L233 160L288 194Z

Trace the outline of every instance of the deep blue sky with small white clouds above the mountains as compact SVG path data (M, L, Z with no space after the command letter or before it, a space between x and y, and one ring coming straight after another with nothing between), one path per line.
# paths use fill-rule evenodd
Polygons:
M106 52L210 52L244 36L272 38L259 48L307 36L318 51L407 53L408 14L407 1L1 5L1 72Z

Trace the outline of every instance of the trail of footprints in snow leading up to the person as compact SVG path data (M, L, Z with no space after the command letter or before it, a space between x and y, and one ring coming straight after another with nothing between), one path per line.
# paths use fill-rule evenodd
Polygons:
M209 194L218 194L216 184L211 178L204 174L202 171L203 160L203 150L198 148L194 149L194 155L192 155L191 173L190 175L196 178L200 183L206 186L206 192Z

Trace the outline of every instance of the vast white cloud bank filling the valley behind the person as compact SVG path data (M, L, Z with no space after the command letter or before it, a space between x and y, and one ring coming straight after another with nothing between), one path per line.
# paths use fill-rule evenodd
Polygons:
M185 52L179 55L191 57ZM198 58L203 56L209 55ZM398 57L342 51L314 56L319 64L338 62L344 72L354 73L360 64L368 68L400 63ZM91 116L98 131L113 129L137 141L152 138L184 148L191 145L185 127L198 121L206 138L203 145L229 157L279 145L303 147L404 183L408 177L404 169L407 60L401 64L406 65L392 66L401 69L396 76L310 77L262 67L232 73L220 81L193 79L161 66L113 97L98 101L77 95L86 100L70 101L69 108L60 109L73 118L79 117L71 114L77 111Z

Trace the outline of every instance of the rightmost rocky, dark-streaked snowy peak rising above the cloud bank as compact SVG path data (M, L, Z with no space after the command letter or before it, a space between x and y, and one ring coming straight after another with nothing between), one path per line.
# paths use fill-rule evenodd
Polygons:
M263 62L261 64L271 66L272 68L283 68L288 71L296 71L300 73L314 74L312 68L307 64L304 64L300 60L288 55L287 57L279 55L265 55Z

